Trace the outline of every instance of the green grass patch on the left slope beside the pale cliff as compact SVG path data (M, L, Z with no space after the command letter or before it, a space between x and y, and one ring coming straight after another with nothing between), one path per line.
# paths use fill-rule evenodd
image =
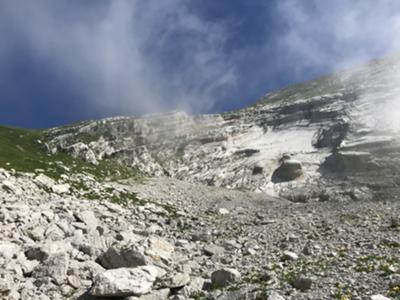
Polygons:
M0 126L0 168L29 173L38 173L37 170L41 169L53 179L71 173L90 174L100 181L141 177L138 170L115 161L100 161L93 165L63 152L50 155L44 149L45 140L46 132L43 130Z

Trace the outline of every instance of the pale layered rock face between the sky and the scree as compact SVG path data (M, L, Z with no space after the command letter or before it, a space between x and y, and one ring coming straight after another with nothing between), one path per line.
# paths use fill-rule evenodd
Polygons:
M399 66L399 57L373 61L223 114L171 112L55 128L48 150L68 152L81 142L92 161L273 194L306 189L319 197L339 185L389 190L400 167ZM285 160L298 162L297 173L274 180Z

